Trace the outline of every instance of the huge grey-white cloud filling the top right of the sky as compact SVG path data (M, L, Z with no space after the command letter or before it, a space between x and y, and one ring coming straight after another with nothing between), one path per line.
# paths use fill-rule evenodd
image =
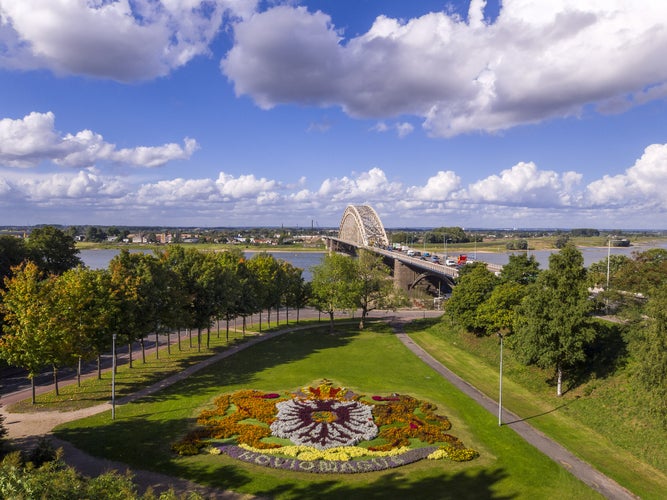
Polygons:
M492 23L485 4L472 1L467 20L448 12L378 16L347 39L327 14L283 5L238 22L221 67L236 93L262 108L412 115L441 137L665 96L663 0L504 0Z

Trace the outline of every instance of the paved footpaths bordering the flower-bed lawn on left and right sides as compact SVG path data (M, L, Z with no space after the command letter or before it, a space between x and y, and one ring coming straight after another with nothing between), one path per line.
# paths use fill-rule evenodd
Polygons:
M427 315L429 317L433 317L434 315L440 315L440 314L441 314L440 312L427 313L424 311L404 311L396 313L396 315L392 313L376 312L372 316L374 318L381 318L390 321L396 332L396 336L408 349L410 349L410 351L412 351L422 361L424 361L424 363L426 363L436 372L438 372L442 377L449 380L459 390L461 390L462 392L473 398L482 407L486 408L489 412L496 414L498 410L498 403L496 401L494 401L493 399L489 398L488 396L480 392L477 388L473 387L465 380L461 379L454 372L450 371L439 361L433 358L430 354L428 354L425 350L423 350L420 346L415 344L415 342L407 334L403 332L403 324L406 321L416 318L426 317ZM286 328L284 330L271 332L269 334L264 334L249 339L243 344L236 345L227 351L213 355L210 358L202 361L201 363L193 365L176 375L173 375L158 382L157 384L154 384L150 387L146 387L126 398L119 399L117 403L118 404L129 403L135 399L153 394L165 387L168 387L169 385L172 385L180 380L189 377L191 374L199 370L202 370L203 368L213 363L216 363L221 359L232 356L241 350L247 349L248 347L258 342L262 342L264 340L274 338L278 335L304 328L312 328L312 325ZM3 396L5 404L11 403L13 402L13 400L17 401L19 399L21 398L18 397L18 395L15 396L14 398ZM83 418L89 415L94 415L96 413L101 413L109 409L110 405L107 403L73 412L39 412L39 413L16 414L16 413L8 413L4 408L0 408L0 413L2 413L6 417L5 427L9 432L9 438L12 441L14 441L19 447L22 446L28 447L34 445L34 443L37 441L39 437L44 435L49 435L52 429L60 423L68 422L71 420L77 420L79 418ZM503 409L502 415L503 415L503 421L509 422L504 425L511 426L528 443L535 446L538 450L540 450L542 453L550 457L555 462L561 464L574 476L581 479L584 483L589 485L594 490L598 491L600 494L604 495L606 498L614 500L637 498L628 490L620 486L618 483L616 483L609 477L605 476L597 469L593 468L590 464L577 458L572 453L563 448L561 445L552 441L544 434L537 431L530 424L523 421L521 417L519 417L518 415L510 411L507 411L505 409ZM57 447L63 448L65 452L66 462L69 465L75 467L79 472L87 476L97 476L103 472L112 469L118 471L124 471L125 469L127 469L127 465L123 463L113 462L110 460L93 457L81 450L78 450L77 448L75 448L66 441L53 438L53 436L50 436L50 438ZM251 498L247 495L241 495L234 492L204 488L200 485L197 485L195 483L186 480L165 476L163 474L155 472L141 471L141 470L133 470L132 472L135 476L134 477L135 483L137 483L140 491L142 492L145 491L148 487L153 488L153 490L157 493L172 488L177 494L197 491L203 496L205 496L205 498L211 498L211 499Z

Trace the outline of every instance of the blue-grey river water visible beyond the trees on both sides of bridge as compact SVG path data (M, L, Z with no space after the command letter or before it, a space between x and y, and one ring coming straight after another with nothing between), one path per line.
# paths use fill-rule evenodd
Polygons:
M663 248L667 249L667 241L658 241L654 244L647 245L637 245L631 247L612 247L611 255L626 255L628 257L632 256L633 252L643 252L650 248ZM607 247L581 247L579 248L581 253L584 256L584 265L586 267L590 266L595 262L599 262L607 258ZM141 252L141 250L133 250L135 252ZM81 250L79 257L83 263L90 267L91 269L106 269L109 265L109 261L118 255L119 250L103 249L103 250ZM146 250L150 253L152 250ZM540 264L540 269L549 268L549 256L557 252L557 250L530 250L528 255L534 255L537 262ZM252 258L258 252L245 252L247 258ZM289 262L295 267L303 269L303 277L306 281L312 279L312 273L310 269L313 266L316 266L322 262L322 258L325 255L325 252L289 252L289 251L280 251L280 252L268 252L273 255L276 259L284 260ZM509 256L513 253L519 252L477 252L476 259L489 262L491 264L500 264L505 265L509 262ZM474 253L468 253L468 258L475 258Z

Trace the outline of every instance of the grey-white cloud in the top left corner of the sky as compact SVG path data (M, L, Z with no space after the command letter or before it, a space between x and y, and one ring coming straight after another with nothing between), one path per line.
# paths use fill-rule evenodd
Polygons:
M151 79L207 54L224 16L248 16L256 5L256 0L3 0L0 67Z

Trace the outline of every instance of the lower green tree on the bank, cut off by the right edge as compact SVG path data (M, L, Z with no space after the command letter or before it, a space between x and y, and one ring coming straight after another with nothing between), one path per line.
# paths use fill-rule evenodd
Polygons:
M629 342L632 374L649 395L649 409L667 427L667 286L656 288Z

